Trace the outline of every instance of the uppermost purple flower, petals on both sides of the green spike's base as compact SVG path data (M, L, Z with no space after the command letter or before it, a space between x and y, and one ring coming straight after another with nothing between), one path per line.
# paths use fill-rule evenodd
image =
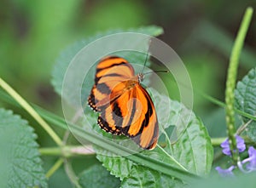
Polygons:
M220 146L223 148L222 152L225 155L231 156L230 143L229 143L228 139L224 140L224 142ZM245 149L246 149L246 145L244 144L244 140L238 135L236 135L236 148L238 149L238 151L240 153L242 151L245 151Z

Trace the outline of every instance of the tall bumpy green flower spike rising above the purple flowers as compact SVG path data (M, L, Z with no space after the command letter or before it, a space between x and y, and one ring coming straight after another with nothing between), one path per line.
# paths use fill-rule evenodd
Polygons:
M241 26L239 28L236 41L230 55L230 66L228 69L226 90L225 90L225 103L226 103L226 123L227 131L230 140L230 150L232 152L233 162L236 163L239 159L236 150L236 128L235 128L235 86L236 86L236 74L241 54L241 48L244 43L244 39L247 35L247 29L252 19L253 9L247 8L243 19L241 20Z

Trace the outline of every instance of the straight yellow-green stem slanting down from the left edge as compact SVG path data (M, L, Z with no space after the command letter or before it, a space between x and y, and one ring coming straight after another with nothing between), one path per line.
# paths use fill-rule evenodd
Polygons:
M26 100L24 100L20 94L15 92L15 89L11 88L8 83L5 83L3 79L0 77L0 86L14 98L18 104L20 104L49 134L49 136L55 141L55 143L59 146L62 145L62 141L60 137L55 134L55 131L49 127L49 124L44 121L42 117L39 116L38 112L35 111L31 105L29 105Z

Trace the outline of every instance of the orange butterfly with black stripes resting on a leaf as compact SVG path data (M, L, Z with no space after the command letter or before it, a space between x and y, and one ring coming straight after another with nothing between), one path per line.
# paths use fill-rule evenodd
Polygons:
M159 125L147 90L140 84L131 64L118 56L108 56L96 66L95 83L88 104L99 112L98 125L106 132L130 137L143 149L154 149Z

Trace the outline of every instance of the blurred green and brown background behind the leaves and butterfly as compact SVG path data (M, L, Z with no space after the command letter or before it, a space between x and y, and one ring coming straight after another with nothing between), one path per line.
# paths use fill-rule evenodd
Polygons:
M187 66L195 90L224 100L230 50L248 5L255 7L256 1L2 0L0 76L26 100L61 115L61 100L50 85L51 71L61 50L99 31L156 25L165 31L160 39L168 43ZM238 79L256 65L255 49L254 14L241 55ZM177 91L173 93L175 98ZM54 145L25 112L1 101L0 105L28 119L36 129L40 145ZM195 93L194 111L212 136L220 136L221 131L214 126L224 125L223 109ZM55 157L44 158L48 169ZM76 162L86 165L83 158ZM51 177L50 184L70 187L61 174L63 169Z

